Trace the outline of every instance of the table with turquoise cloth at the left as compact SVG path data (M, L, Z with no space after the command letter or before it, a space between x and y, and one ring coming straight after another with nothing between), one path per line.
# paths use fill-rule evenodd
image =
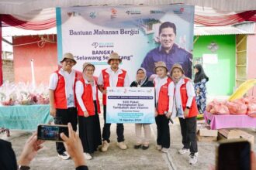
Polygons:
M14 105L0 107L0 128L36 131L37 124L54 121L50 105Z

